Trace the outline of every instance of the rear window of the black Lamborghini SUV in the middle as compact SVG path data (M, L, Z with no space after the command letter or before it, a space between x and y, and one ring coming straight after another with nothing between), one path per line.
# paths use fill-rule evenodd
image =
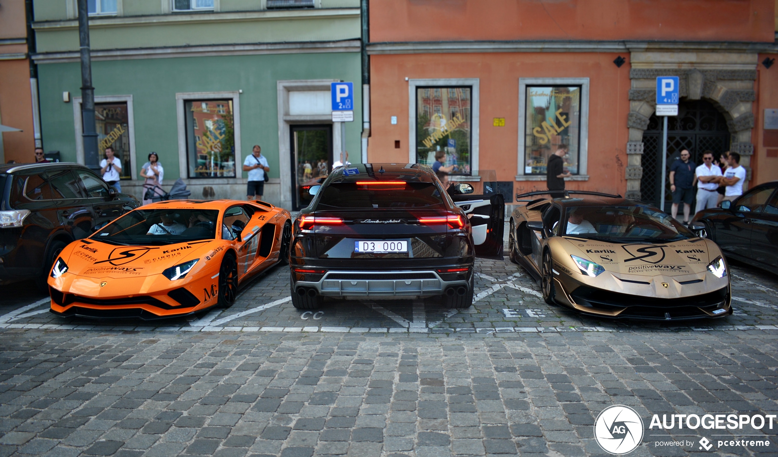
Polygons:
M336 182L321 190L322 208L430 208L443 206L440 190L431 182Z

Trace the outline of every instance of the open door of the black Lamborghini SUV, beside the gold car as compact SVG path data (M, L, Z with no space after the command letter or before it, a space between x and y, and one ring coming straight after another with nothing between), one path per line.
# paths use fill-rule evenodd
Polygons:
M502 260L505 199L497 191L495 171L474 171L467 176L452 174L448 194L470 219L475 255Z

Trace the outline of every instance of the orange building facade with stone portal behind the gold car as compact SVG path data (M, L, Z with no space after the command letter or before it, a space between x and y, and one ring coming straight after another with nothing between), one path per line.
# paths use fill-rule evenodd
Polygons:
M658 203L656 78L678 76L668 167L733 150L748 185L778 178L775 0L373 0L366 47L370 161L444 155L463 180L495 170L510 202L565 145L566 188Z

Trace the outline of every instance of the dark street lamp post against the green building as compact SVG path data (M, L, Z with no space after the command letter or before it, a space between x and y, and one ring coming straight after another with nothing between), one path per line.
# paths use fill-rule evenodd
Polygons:
M97 132L95 127L95 88L92 86L92 56L89 51L89 8L87 7L87 0L78 0L78 2L84 163L92 170L100 171L100 161L97 160Z

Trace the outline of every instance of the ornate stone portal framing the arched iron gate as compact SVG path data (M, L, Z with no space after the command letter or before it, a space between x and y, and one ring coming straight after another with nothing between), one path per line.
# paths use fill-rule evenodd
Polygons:
M679 54L686 54L687 57L691 55L689 60L693 62L677 62ZM678 76L682 100L708 100L724 114L731 133L730 150L741 155L740 163L748 171L745 183L748 186L751 178L749 164L754 153L751 130L754 128L752 104L756 100L754 81L757 54L739 53L736 57L733 54L633 52L633 68L629 72L629 78L632 79L632 88L629 90L630 112L627 116L627 198L640 199L643 131L648 127L651 114L656 111L657 76ZM663 57L667 58L666 62L661 62ZM719 62L711 62L716 60ZM726 62L728 60L731 62ZM668 68L670 65L675 68ZM727 66L731 68L727 69Z

